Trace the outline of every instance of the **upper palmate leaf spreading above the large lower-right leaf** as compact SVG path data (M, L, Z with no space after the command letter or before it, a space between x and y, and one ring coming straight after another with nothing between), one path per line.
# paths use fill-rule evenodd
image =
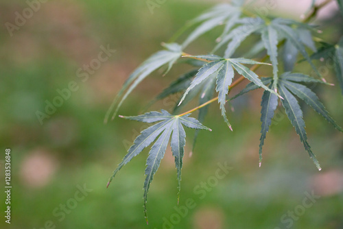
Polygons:
M314 41L311 37L313 27L304 23L299 23L290 19L273 19L272 21L263 21L260 18L244 18L239 19L239 25L230 33L228 33L220 43L215 47L217 51L222 45L228 43L224 58L230 58L235 53L241 43L251 34L260 33L262 44L267 50L270 61L273 65L274 88L276 88L278 80L279 62L278 62L278 44L279 39L285 38L287 49L284 49L284 60L286 69L292 70L296 61L298 52L305 57L311 67L320 76L320 73L311 62L311 58L305 50L305 46L313 51L316 51ZM295 28L293 28L295 27ZM258 47L257 47L258 48ZM259 51L259 49L257 49Z

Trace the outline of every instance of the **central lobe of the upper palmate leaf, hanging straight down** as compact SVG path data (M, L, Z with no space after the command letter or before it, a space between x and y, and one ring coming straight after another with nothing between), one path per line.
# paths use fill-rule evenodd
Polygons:
M278 34L274 27L268 26L262 32L261 36L265 49L267 49L268 56L270 57L270 61L273 65L273 76L274 76L274 88L276 88L278 82Z

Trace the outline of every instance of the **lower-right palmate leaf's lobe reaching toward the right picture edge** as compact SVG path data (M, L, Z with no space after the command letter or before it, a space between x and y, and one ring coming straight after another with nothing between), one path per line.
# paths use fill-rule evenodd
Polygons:
M294 82L289 82L283 80L285 87L291 91L294 95L298 96L300 99L306 102L307 105L311 106L318 112L319 115L322 115L324 119L327 119L329 123L333 125L336 129L342 132L342 128L338 126L335 121L330 117L329 113L325 109L324 105L319 101L317 95L311 91L307 86L302 84L296 84Z

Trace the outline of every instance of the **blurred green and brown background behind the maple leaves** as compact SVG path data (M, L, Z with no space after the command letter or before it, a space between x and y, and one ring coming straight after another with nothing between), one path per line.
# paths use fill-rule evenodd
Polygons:
M308 7L310 1L304 2ZM228 117L234 132L224 125L217 104L212 104L204 125L213 132L200 132L191 157L194 131L187 130L178 207L176 169L167 150L148 197L149 226L142 208L147 149L121 169L106 189L113 169L144 128L141 123L120 119L104 125L113 97L130 72L161 49L161 42L214 3L165 1L152 13L146 1L138 0L47 1L13 36L5 26L0 27L3 186L5 149L12 149L12 223L5 224L2 191L1 228L343 228L342 133L304 106L309 143L323 168L318 172L279 109L259 169L261 91L233 102L235 112ZM21 14L27 7L25 1L1 1L1 25L14 24L15 12ZM292 7L271 14L299 18ZM335 42L342 35L342 17L334 9L327 14L322 19L327 25L320 28L325 29L319 36ZM202 36L186 51L208 52L219 33L215 30ZM116 51L88 79L78 77L78 69L97 58L101 47ZM165 77L161 71L154 73L130 95L120 115L138 115L154 95L187 69L179 64ZM325 76L337 84L331 70ZM305 64L298 71L310 69ZM261 69L259 73L269 72ZM70 82L78 90L40 125L37 110L44 112L46 101L53 101L57 90ZM314 90L343 125L340 88L316 86ZM151 109L171 110L174 104L171 97ZM211 190L200 188L203 193L199 195L196 190L201 182L213 181L218 162L232 169ZM89 192L81 195L78 190L84 185ZM304 208L303 200L312 192L320 198ZM189 198L195 203L193 208L178 213L176 208L185 210ZM62 210L63 206L67 207ZM289 211L294 210L292 218Z

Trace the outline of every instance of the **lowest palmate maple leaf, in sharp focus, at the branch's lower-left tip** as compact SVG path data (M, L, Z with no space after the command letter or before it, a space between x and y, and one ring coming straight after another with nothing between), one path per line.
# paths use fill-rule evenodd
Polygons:
M189 114L190 115L190 114ZM202 130L210 130L202 125L198 120L189 117L189 115L185 116L174 116L169 114L169 112L165 110L161 110L161 112L148 112L145 115L139 115L136 117L123 117L124 119L130 119L135 121L141 121L145 123L156 123L149 128L143 130L141 135L137 136L134 140L133 145L128 149L128 154L123 158L123 161L118 165L117 169L113 172L113 176L111 176L110 180L108 181L107 186L113 180L117 172L126 165L134 156L137 156L139 153L143 151L146 147L151 145L157 138L154 145L150 149L149 156L147 156L147 167L145 169L145 182L144 182L144 214L147 220L147 192L149 191L150 184L156 173L161 160L165 154L167 149L167 145L169 143L169 139L171 138L171 152L175 157L176 169L178 174L178 199L180 195L180 180L181 180L181 169L182 169L182 158L184 155L184 147L185 147L185 130L183 126L187 128L193 129L202 129Z

